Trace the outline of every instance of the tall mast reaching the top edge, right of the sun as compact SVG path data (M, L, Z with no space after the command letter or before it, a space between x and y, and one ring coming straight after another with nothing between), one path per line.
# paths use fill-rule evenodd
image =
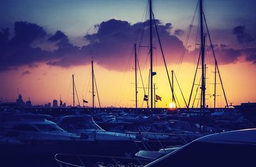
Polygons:
M202 63L202 97L201 108L205 109L205 76L204 76L204 24L203 24L203 4L200 0L200 37L201 37L201 63Z

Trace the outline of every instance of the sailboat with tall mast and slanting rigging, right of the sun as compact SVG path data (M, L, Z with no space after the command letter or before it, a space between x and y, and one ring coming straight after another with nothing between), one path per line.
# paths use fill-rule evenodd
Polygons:
M212 44L212 39L211 35L209 33L209 29L207 26L205 14L204 14L204 9L203 9L203 1L199 0L198 4L196 6L196 10L199 6L199 30L200 30L200 53L198 56L198 61L196 64L196 70L195 70L195 76L193 78L193 84L191 88L191 93L189 95L189 100L188 100L188 105L186 105L186 109L184 109L184 113L182 113L182 117L180 117L181 120L188 121L188 122L194 122L198 123L200 131L205 131L206 125L212 125L212 122L216 121L216 117L214 117L214 112L219 112L223 113L225 115L227 112L231 115L235 115L236 112L234 112L234 108L228 106L228 100L227 100L227 95L223 86L223 80L220 75L220 69L218 67L218 61L216 60L216 54L214 52L214 45ZM195 12L196 13L196 12ZM195 15L194 17L195 18ZM191 27L189 31L191 31ZM189 34L187 38L189 38ZM213 97L213 107L210 108L207 104L207 98L205 98L205 95L207 95L206 90L209 90L209 87L207 88L206 86L206 52L207 52L207 38L209 39L210 46L208 48L211 48L213 60L214 60L214 93L211 94L211 97ZM186 47L186 45L184 46ZM196 48L195 48L196 50ZM201 64L201 65L200 65ZM201 70L201 75L198 74L198 69L200 67ZM199 83L196 84L196 76L199 76L200 81ZM220 83L217 83L217 79L220 81ZM217 95L216 91L216 85L220 84L221 85L221 91L223 93L223 97L225 100L225 107L216 107L216 98L220 95ZM197 85L196 91L195 90L195 85ZM198 91L200 90L200 91ZM195 99L192 99L192 95L195 92ZM200 92L200 93L198 93ZM198 98L198 104L200 105L199 107L194 107L195 106L195 100L196 100L196 95L199 95ZM210 103L210 102L209 102ZM226 127L227 128L227 127Z

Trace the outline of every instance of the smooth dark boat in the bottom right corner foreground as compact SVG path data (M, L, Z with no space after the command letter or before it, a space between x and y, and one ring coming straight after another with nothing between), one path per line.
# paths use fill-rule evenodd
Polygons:
M196 139L146 166L252 166L256 129L221 132Z

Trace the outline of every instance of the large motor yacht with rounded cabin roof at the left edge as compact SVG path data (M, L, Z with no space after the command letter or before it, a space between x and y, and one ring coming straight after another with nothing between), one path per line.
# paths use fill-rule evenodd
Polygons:
M56 123L45 119L46 115L13 115L4 118L1 123L1 136L10 137L21 141L22 148L15 150L17 154L91 154L91 155L124 155L129 152L136 152L136 141L132 136L122 136L118 139L117 134L112 138L105 136L101 131L102 138L98 135L90 136L86 133L72 133L63 130ZM51 116L48 116L51 118ZM99 128L99 127L98 127ZM130 137L131 136L131 137ZM13 154L12 149L4 149L0 145L1 154Z

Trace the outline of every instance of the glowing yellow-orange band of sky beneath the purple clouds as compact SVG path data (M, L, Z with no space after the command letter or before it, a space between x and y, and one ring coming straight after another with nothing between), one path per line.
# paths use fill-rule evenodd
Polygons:
M177 67L174 66L173 69L175 70L175 68L177 69ZM207 69L212 70L214 68L208 67ZM29 70L31 73L22 76L21 73L26 70ZM157 85L156 93L163 98L162 101L157 102L157 107L167 107L172 96L170 94L170 86L166 73L164 72L164 67L157 67L156 70L157 76L154 77L154 83ZM241 102L256 101L255 65L252 63L221 65L220 70L228 102L240 104ZM33 104L52 102L52 99L60 99L60 95L63 102L72 104L71 76L75 74L75 82L80 102L82 102L82 96L84 96L84 99L89 101L88 106L92 106L90 72L90 65L84 67L60 68L38 64L36 68L20 67L19 70L2 72L1 76L3 76L3 79L0 81L0 94L4 101L13 102L17 98L17 88L19 88L23 99L28 100L28 97L30 97ZM195 65L184 63L182 67L180 67L179 74L176 74L186 100L189 98L194 72ZM208 71L208 76L210 75L209 73L212 75L212 73ZM145 84L147 83L147 74L148 70L147 72L143 71ZM95 64L95 77L102 106L134 107L134 71L116 72ZM213 93L213 86L209 84L212 82L211 79L207 79L206 93L209 93L209 91L211 91L211 94ZM138 77L138 87L141 86L141 79ZM218 97L216 104L217 106L223 107L225 106L223 93L221 93L220 86L217 86L217 88L218 95L221 95L221 97ZM138 91L138 107L141 107L144 93L142 89ZM180 102L180 106L184 107L185 105L179 93L177 83L175 83L175 91L177 92L177 99ZM10 98L6 99L6 97ZM213 98L209 96L206 98L208 99L207 105L212 107ZM98 105L98 102L96 102L96 106ZM145 107L145 102L143 107Z

